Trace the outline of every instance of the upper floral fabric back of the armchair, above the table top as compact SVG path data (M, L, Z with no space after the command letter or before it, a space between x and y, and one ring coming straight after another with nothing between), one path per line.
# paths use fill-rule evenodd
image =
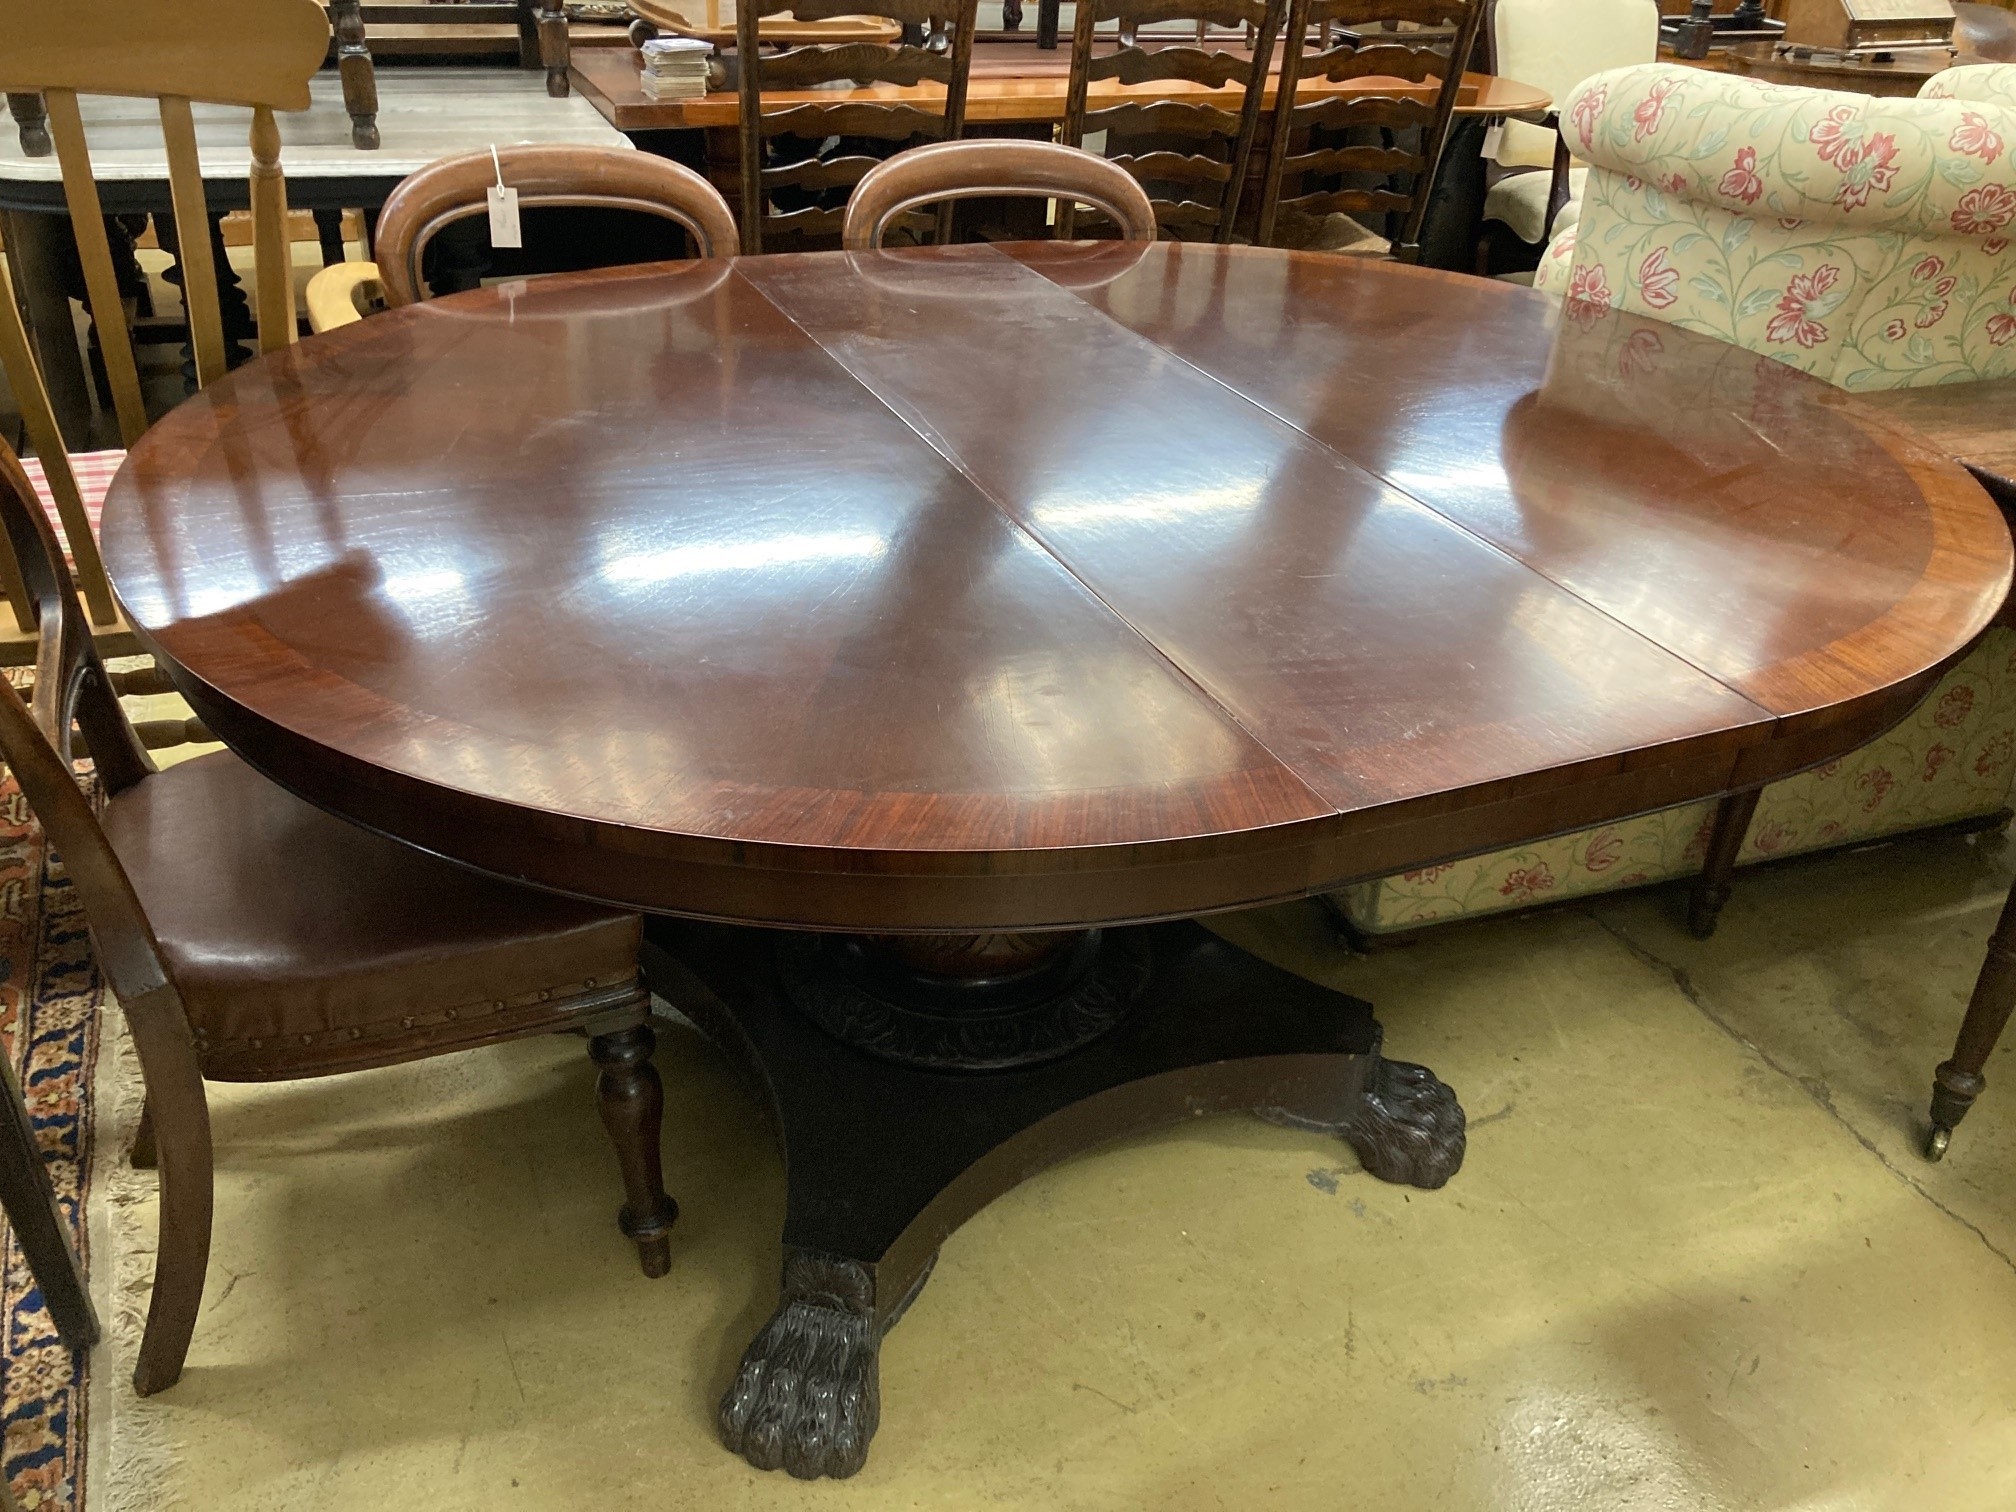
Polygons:
M1562 117L1593 167L1534 286L1570 319L1655 314L1845 389L2016 375L2016 67L1909 101L1653 62Z

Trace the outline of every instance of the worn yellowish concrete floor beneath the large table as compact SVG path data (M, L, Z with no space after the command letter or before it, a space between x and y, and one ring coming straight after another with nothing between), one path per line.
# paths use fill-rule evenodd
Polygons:
M145 1506L2016 1506L2016 1060L1915 1153L1996 843L1746 873L1375 958L1222 923L1373 998L1472 1117L1443 1191L1212 1119L1077 1159L943 1250L853 1482L714 1441L774 1296L780 1165L663 1034L673 1274L643 1280L575 1040L214 1089L218 1242ZM95 1494L93 1506L105 1502Z

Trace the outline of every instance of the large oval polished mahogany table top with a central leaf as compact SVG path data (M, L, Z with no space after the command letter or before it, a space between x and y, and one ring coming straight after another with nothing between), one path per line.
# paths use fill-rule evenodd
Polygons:
M1492 280L1022 244L518 282L240 369L105 558L242 756L792 927L1202 913L1780 776L2010 585L1857 399Z

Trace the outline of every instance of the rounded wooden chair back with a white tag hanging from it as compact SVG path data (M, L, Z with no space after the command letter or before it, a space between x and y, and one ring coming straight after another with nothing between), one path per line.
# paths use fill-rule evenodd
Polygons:
M427 298L421 264L433 238L456 222L486 216L502 171L518 208L631 210L685 230L694 256L736 252L736 218L700 173L667 157L627 147L498 147L427 163L385 200L373 234L375 262L333 262L308 280L308 325L331 331L363 319L373 296L387 308Z

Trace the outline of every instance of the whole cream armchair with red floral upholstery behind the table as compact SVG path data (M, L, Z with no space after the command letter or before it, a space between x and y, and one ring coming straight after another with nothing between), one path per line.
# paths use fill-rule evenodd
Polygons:
M1560 121L1591 173L1534 282L1570 319L1629 310L1845 389L2016 375L2016 67L1947 69L1901 101L1639 65L1589 79ZM1990 827L2008 818L2012 774L2016 631L1996 625L1901 726L1760 794L1359 883L1333 903L1379 935L1706 867L1691 917L1708 933L1728 861Z

